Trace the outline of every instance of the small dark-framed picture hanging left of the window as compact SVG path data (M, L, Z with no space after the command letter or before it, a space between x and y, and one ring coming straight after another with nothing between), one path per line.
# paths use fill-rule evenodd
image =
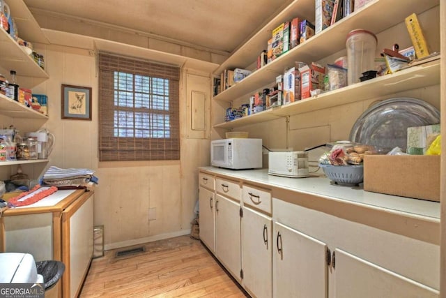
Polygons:
M62 119L91 120L91 87L62 85Z

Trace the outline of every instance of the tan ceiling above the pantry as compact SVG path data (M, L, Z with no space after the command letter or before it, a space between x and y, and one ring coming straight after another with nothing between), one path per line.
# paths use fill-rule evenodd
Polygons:
M291 0L24 0L33 10L233 50Z

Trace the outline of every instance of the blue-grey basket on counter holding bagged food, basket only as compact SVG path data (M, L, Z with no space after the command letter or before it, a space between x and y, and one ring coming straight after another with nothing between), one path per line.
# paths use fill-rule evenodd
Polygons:
M343 186L358 186L364 180L362 165L319 165L334 183Z

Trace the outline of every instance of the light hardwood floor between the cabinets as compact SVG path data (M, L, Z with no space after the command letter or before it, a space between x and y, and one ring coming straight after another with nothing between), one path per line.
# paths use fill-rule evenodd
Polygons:
M145 251L116 257L121 248L93 259L80 297L249 297L199 240L139 246Z

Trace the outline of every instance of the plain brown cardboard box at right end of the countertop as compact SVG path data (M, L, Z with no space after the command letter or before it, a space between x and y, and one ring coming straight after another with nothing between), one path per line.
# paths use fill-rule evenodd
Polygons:
M440 156L366 155L364 191L440 202Z

